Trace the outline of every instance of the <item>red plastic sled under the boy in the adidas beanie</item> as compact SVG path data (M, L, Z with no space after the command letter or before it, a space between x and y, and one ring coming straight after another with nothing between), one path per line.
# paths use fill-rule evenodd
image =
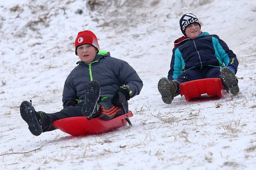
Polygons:
M180 84L180 95L184 95L187 101L192 98L200 97L202 94L218 97L226 94L226 91L221 83L221 79L199 79Z

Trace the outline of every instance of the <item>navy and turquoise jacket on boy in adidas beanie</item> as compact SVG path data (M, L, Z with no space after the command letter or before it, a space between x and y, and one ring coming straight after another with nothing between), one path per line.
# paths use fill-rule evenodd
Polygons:
M172 50L169 80L176 79L188 69L203 69L204 66L232 66L237 72L236 54L217 35L202 32L196 39L181 37L177 40Z

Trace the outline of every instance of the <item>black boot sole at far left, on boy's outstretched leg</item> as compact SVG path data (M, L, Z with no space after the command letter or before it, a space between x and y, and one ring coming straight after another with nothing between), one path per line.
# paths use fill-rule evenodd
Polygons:
M36 117L36 113L28 101L24 101L20 104L20 116L28 124L28 129L33 135L39 136L43 132Z

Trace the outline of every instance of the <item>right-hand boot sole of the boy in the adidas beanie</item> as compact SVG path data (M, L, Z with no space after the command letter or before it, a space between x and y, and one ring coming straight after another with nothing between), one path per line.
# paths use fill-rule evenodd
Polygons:
M236 76L229 68L221 69L221 77L225 85L228 86L228 90L232 95L236 95L239 92L239 87L236 81Z

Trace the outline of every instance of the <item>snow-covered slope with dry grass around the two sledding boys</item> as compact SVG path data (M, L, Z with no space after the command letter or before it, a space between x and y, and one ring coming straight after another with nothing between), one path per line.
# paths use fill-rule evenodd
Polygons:
M255 2L88 2L0 0L0 168L255 169ZM162 102L157 82L167 77L184 13L195 14L202 31L217 34L236 53L238 95ZM47 113L62 108L64 81L79 60L74 40L83 30L142 79L140 95L129 101L132 126L90 136L60 130L33 136L20 103L32 99Z

